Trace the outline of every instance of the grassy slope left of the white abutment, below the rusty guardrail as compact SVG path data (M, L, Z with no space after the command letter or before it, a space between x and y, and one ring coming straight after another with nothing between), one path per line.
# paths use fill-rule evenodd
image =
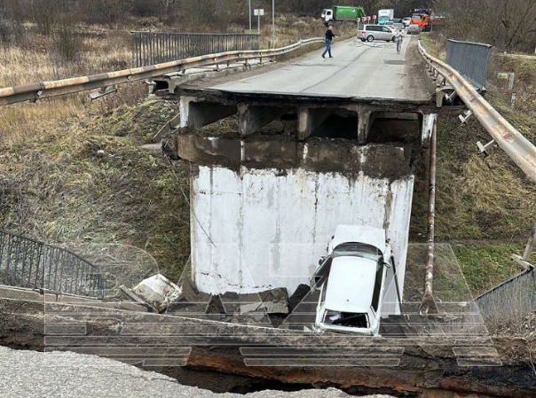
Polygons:
M189 172L138 149L176 112L170 103L122 105L0 152L0 225L52 242L138 246L176 279L190 251L180 191L188 196Z

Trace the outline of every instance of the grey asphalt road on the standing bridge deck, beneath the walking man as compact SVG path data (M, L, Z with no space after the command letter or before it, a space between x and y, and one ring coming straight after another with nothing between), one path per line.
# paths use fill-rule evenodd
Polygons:
M380 98L427 102L433 94L424 74L417 41L406 38L400 54L396 43L348 40L333 46L333 59L321 51L279 69L210 90L335 98ZM431 81L430 81L431 82Z

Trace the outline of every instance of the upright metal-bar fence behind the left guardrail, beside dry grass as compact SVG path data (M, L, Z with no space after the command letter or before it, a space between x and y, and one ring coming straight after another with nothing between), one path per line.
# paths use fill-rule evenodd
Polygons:
M131 32L135 67L198 57L225 51L260 50L261 36L249 34L201 34Z

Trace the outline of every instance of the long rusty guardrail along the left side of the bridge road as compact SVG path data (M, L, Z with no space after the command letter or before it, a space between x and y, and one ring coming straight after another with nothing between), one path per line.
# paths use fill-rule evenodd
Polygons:
M211 66L240 60L245 61L248 59L276 57L296 51L305 45L323 42L323 38L317 37L301 40L298 43L280 49L227 51L189 59L179 59L177 61L165 62L154 66L124 69L108 74L93 74L91 76L73 77L58 81L38 82L25 86L9 87L0 89L0 105L10 105L24 101L35 102L38 99L59 97L96 89L106 90L107 87L112 87L117 84L143 81L156 76L162 76L163 74L184 71L194 67Z

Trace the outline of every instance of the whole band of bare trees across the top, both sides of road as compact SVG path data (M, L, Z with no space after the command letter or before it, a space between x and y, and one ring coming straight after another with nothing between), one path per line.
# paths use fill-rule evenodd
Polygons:
M275 0L275 4L278 15L303 17L319 17L322 9L333 5L361 5L368 15L393 8L397 18L409 16L416 7L431 7L449 17L445 31L449 37L508 51L533 51L536 42L536 0ZM251 5L272 13L272 0L251 0ZM248 0L0 0L0 41L6 32L16 31L13 23L27 21L43 35L77 23L144 28L154 22L183 32L236 31L248 27Z

